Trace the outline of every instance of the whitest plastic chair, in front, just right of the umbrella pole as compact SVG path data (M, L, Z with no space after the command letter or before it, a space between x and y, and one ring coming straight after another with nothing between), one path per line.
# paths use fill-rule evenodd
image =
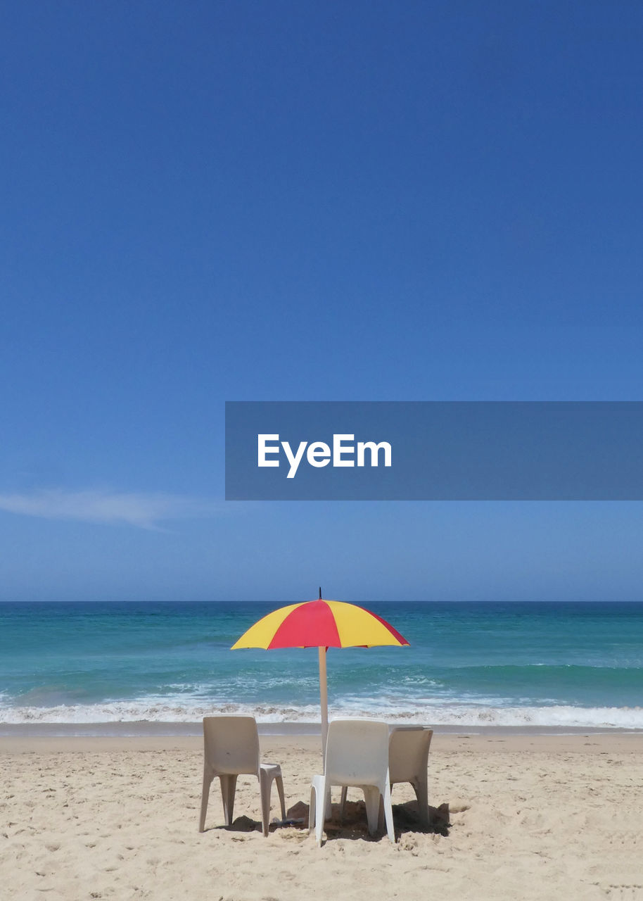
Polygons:
M328 727L323 776L313 776L308 832L321 845L324 815L331 808L331 786L361 788L367 807L368 832L377 829L380 798L386 833L395 842L388 773L388 724L378 720L333 720Z

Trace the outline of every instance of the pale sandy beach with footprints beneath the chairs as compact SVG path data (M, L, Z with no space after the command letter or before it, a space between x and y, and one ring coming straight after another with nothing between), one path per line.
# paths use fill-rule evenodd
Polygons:
M281 763L286 806L307 803L319 738L261 745ZM412 788L395 786L395 845L368 839L360 808L321 849L292 826L244 832L260 817L246 777L240 824L222 828L216 780L198 833L202 761L186 736L0 739L0 897L643 899L641 735L436 734L435 831L417 831Z

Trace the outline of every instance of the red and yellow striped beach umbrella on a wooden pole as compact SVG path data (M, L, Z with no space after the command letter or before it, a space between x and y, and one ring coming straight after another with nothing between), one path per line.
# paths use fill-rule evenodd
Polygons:
M329 648L372 648L376 645L401 646L409 642L381 616L364 607L343 601L304 601L274 610L248 632L241 635L231 650L239 648L318 648L321 696L321 751L326 753L328 734L328 691L326 652Z

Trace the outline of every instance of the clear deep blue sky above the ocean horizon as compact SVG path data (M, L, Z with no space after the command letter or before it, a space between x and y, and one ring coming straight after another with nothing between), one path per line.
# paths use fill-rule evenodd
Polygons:
M228 400L643 399L643 6L5 4L0 599L641 599L643 505L223 497Z

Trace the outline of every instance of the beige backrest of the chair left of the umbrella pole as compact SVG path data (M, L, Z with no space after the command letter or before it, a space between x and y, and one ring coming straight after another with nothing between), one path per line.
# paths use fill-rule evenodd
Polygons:
M204 716L205 765L218 774L259 772L254 716Z

